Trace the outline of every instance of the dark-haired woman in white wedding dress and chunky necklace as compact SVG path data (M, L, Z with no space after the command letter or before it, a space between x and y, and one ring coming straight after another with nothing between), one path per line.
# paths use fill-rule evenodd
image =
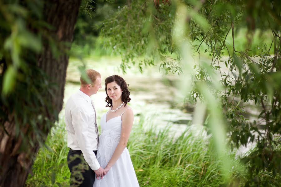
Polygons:
M106 103L111 109L101 117L97 159L106 175L93 187L138 187L138 180L126 148L133 125L133 110L127 105L130 92L118 75L105 80ZM99 179L98 176L96 176Z

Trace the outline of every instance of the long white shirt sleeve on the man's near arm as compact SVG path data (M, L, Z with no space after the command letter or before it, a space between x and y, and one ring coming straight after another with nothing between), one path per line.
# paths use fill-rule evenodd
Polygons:
M92 170L97 170L101 166L96 159L96 155L91 150L91 144L88 137L88 124L86 111L82 107L77 107L71 113L72 125L75 130L77 142L81 148L83 156L86 162L89 164Z

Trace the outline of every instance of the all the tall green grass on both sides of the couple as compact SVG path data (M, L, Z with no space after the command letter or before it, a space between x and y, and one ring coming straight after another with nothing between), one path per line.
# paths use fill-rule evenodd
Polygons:
M189 130L175 137L169 127L157 130L152 128L153 124L146 124L147 121L141 117L139 123L134 124L127 146L140 186L220 186L226 183L211 141ZM146 129L148 125L151 128ZM39 150L27 186L69 186L64 126L61 122L52 129L46 142L49 148ZM233 154L229 156L234 158ZM229 174L243 181L243 171L238 161L233 160ZM237 180L232 182L241 182Z

